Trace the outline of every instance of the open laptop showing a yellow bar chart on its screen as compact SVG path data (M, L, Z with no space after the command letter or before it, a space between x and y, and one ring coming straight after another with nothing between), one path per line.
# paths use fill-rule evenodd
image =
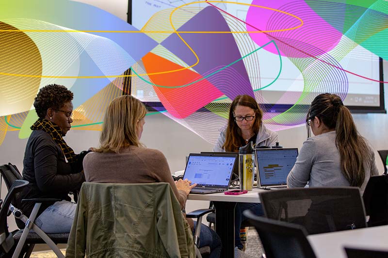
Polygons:
M256 149L258 186L269 189L287 188L287 176L297 156L297 148Z

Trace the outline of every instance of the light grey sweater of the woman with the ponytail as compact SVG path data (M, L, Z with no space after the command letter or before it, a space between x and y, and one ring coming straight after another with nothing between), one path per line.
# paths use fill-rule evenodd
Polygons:
M360 187L361 193L371 175L378 175L374 161L374 152L370 148L372 159L365 164L365 180ZM339 151L336 147L336 132L307 138L299 152L294 167L287 177L289 187L350 186L340 167Z

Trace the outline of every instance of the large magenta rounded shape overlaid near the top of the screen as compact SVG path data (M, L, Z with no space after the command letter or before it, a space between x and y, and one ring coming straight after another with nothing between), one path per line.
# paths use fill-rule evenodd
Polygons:
M342 33L336 30L321 16L319 16L305 1L294 0L253 0L252 4L270 7L296 15L304 22L303 26L294 30L278 32L249 33L252 40L259 46L263 46L269 40L274 40L279 47L280 54L289 58L307 58L314 56L302 46L313 46L328 52L332 50L342 37ZM323 8L329 8L324 6ZM339 20L343 20L339 18ZM283 30L298 26L301 22L297 18L268 10L265 8L250 6L246 15L247 31L256 30ZM275 46L270 44L264 47L267 51L278 54Z

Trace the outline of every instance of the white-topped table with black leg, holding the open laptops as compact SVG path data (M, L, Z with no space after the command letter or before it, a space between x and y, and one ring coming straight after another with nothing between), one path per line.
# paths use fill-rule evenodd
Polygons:
M234 257L234 208L238 202L259 203L259 193L268 190L254 188L242 195L225 195L224 193L216 194L189 194L188 200L213 201L216 209L215 213L215 231L222 241L222 258Z

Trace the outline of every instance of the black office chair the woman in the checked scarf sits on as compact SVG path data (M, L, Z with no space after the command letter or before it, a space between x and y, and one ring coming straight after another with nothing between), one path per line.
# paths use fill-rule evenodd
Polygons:
M8 165L0 166L0 174L4 179L4 182L8 188L8 192L11 190L14 182L22 179L22 176L16 166L12 165L11 163L8 163ZM29 218L23 214L23 211L17 209L17 207L20 207L19 205L21 201L32 201L35 203ZM60 200L51 198L20 200L19 193L16 193L15 197L11 199L11 205L9 209L15 216L16 225L18 228L20 228L20 230L17 230L13 233L13 238L15 242L17 242L13 257L18 257L19 254L23 253L25 253L24 257L30 257L33 247L37 243L48 244L58 257L64 257L56 244L67 243L69 233L46 234L34 224L36 213L38 212L42 202L46 201L52 202ZM25 228L26 225L29 225L29 228ZM32 229L34 232L30 232ZM26 249L27 251L25 251Z

